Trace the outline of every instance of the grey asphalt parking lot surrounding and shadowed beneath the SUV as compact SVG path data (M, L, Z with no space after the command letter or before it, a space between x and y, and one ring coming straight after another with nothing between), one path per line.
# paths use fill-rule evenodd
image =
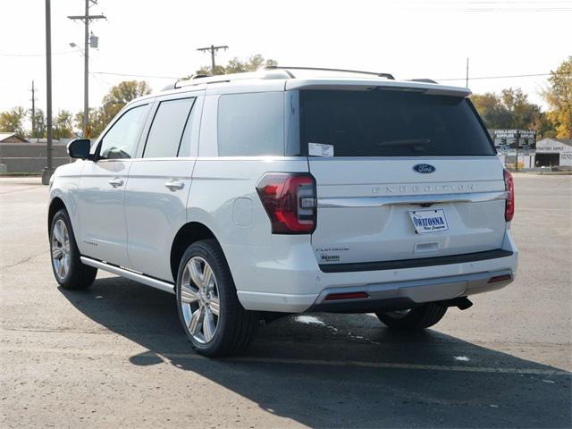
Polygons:
M0 426L569 427L572 176L515 176L508 288L416 334L291 316L225 360L193 353L169 294L58 289L46 187L0 179Z

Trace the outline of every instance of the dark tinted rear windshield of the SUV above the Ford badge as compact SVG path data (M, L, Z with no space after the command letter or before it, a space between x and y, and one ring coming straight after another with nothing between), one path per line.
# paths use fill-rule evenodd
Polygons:
M312 143L331 145L333 156L495 155L463 97L380 88L302 90L300 114L303 155Z

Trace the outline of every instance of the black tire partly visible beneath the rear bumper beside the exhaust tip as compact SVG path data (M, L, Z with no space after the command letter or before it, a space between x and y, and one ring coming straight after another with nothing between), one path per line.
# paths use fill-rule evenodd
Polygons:
M447 313L447 307L428 303L421 307L402 311L376 311L375 315L388 328L416 331L428 328L439 322Z

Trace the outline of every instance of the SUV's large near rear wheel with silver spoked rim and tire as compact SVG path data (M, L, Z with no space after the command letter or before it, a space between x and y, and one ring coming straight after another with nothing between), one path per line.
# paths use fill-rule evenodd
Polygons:
M256 336L257 314L240 305L231 270L216 240L200 240L187 248L175 289L181 324L201 355L239 354Z

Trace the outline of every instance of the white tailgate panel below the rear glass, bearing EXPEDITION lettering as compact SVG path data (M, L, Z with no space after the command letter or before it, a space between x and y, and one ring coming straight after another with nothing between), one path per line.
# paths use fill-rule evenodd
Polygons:
M417 164L433 165L431 179L414 170ZM501 248L505 185L496 157L424 163L310 157L309 165L318 198L312 243L321 265Z

